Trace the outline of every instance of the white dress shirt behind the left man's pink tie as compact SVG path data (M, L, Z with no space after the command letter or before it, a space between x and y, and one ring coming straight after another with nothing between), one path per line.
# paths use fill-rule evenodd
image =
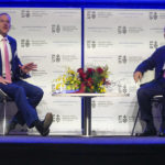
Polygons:
M8 47L8 53L9 53L9 62L11 62L12 59L12 55L11 55L11 47L10 47L10 44L9 44L9 40L8 40L8 36L6 37L7 38L7 47ZM6 62L4 62L4 46L3 46L3 36L0 34L0 52L1 52L1 59L2 59L2 74L3 76L6 75ZM10 68L11 68L11 64L10 64Z

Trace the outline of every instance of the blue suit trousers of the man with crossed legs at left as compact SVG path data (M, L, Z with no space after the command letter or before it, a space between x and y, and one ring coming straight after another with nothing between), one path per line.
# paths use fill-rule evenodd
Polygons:
M12 121L21 125L26 123L29 128L33 128L34 121L38 120L35 108L43 97L43 90L21 79L8 85L0 84L0 88L14 100L18 107Z

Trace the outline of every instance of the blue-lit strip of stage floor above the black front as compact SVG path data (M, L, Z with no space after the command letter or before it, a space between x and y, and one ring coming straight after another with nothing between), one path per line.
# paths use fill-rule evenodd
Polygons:
M2 143L23 144L89 144L89 145L165 145L165 138L150 136L40 136L40 135L7 135L0 136Z

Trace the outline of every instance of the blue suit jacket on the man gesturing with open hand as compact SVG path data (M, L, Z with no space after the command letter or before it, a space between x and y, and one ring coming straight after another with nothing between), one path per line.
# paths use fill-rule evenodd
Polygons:
M21 77L22 78L28 78L30 77L26 74L23 74L19 67L19 65L22 65L18 54L16 54L16 41L8 35L9 44L11 46L11 54L12 54L12 59L11 59L11 70L12 70L12 79L19 80ZM2 76L2 59L1 59L1 52L0 52L0 76Z

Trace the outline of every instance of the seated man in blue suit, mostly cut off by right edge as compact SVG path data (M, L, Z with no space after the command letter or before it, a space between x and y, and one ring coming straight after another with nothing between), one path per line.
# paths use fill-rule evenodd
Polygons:
M153 122L151 99L153 96L165 96L165 46L157 48L146 61L142 62L134 72L134 80L141 80L143 74L155 68L155 79L144 84L138 90L138 101L141 111L141 119L145 121L146 128L141 136L156 135L156 129ZM165 136L165 101L163 100L162 124L158 135Z

